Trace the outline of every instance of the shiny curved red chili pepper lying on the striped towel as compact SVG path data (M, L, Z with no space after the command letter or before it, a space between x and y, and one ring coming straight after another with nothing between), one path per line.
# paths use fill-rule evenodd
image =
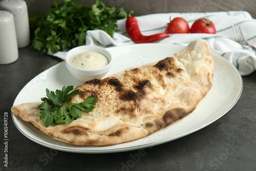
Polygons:
M137 19L133 16L128 17L126 19L126 31L129 37L137 44L142 44L142 43L148 43L148 42L154 42L161 40L165 37L169 37L170 35L167 33L158 33L158 34L153 34L150 36L144 36L141 34Z

